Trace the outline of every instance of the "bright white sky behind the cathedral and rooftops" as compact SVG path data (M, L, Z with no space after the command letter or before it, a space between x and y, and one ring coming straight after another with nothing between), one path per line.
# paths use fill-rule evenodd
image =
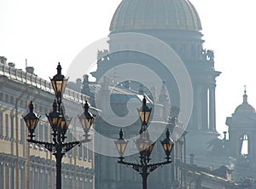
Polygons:
M256 107L255 0L190 0L202 23L205 48L215 52L217 127L241 104L243 86ZM1 0L0 55L17 68L34 66L38 77L64 73L84 47L108 36L114 10L121 0ZM80 76L79 76L80 77ZM81 76L82 77L82 76Z

